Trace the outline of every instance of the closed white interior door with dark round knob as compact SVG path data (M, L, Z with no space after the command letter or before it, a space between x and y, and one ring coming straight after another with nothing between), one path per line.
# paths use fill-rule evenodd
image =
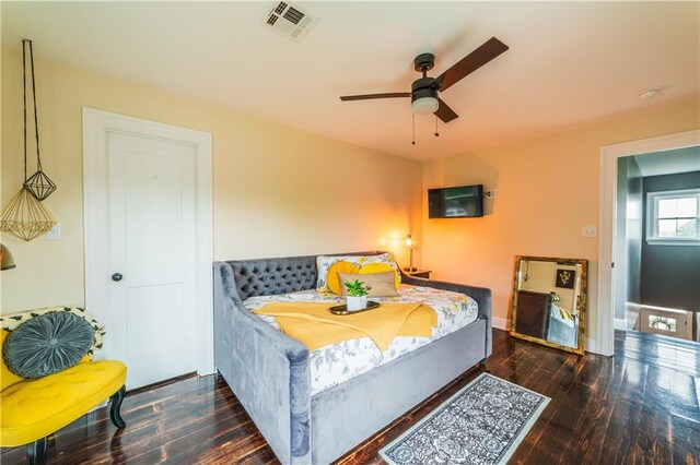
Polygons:
M110 358L127 389L197 370L195 147L107 134Z

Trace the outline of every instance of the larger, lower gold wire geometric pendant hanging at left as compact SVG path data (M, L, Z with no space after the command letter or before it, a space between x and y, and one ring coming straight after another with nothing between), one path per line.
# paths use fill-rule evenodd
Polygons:
M56 219L25 188L12 198L0 218L0 230L27 242L48 233L54 225Z

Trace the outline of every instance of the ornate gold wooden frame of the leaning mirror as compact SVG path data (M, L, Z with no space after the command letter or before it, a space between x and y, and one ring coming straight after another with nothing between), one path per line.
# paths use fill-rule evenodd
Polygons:
M581 281L580 281L580 289L575 294L576 299L576 310L579 312L579 332L576 338L576 347L567 346L559 343L552 343L546 341L545 338L530 336L527 334L521 334L515 331L515 323L517 318L517 291L520 290L520 265L521 261L537 261L537 262L553 262L557 265L562 266L576 266L581 265ZM548 347L558 348L560 350L570 351L578 355L585 354L585 324L586 324L586 305L587 305L587 287L588 287L588 261L582 259L559 259L552 257L529 257L529 255L516 255L515 257L515 265L513 273L513 295L511 298L511 322L510 322L510 331L509 334L513 337L517 337L524 341L528 341L532 343L541 344Z

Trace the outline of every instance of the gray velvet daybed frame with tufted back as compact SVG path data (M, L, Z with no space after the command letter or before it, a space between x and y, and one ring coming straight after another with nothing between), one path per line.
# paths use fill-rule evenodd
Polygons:
M215 262L213 269L217 369L283 464L340 457L491 354L490 289L404 275L407 284L474 298L478 320L312 396L308 349L250 314L242 300L315 288L316 255Z

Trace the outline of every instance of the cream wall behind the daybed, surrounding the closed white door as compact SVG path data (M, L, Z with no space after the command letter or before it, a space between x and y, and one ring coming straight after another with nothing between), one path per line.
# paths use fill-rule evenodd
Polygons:
M62 238L2 236L2 313L84 302L82 107L213 134L214 259L388 249L420 237L421 165L151 88L36 60L45 201ZM2 49L1 205L20 189L22 57ZM33 167L30 168L31 172ZM31 174L30 172L30 174Z

